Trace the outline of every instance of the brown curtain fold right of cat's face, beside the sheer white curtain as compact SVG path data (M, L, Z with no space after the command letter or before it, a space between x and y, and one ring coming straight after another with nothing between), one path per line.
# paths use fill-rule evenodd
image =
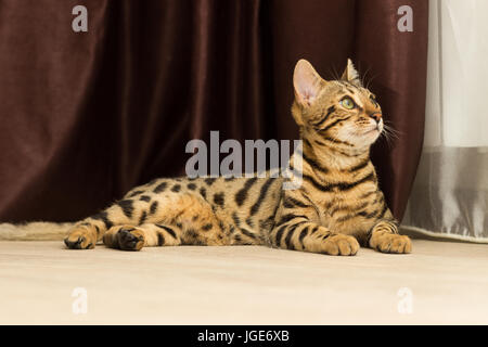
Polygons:
M424 138L427 73L427 1L358 1L355 48L365 81L378 95L385 124L395 136L373 145L380 184L394 215L401 220ZM401 5L412 9L412 31L399 31ZM394 15L393 15L394 14Z

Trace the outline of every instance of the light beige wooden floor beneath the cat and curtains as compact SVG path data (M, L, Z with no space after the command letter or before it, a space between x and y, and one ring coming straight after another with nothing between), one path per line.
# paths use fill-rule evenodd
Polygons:
M87 291L86 314L73 313L76 287ZM411 255L331 257L1 242L0 323L487 324L488 245L414 241Z

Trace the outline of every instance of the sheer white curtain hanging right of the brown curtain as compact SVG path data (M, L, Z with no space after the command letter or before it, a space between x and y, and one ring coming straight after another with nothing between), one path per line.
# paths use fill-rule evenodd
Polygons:
M431 0L424 150L404 229L488 242L488 1Z

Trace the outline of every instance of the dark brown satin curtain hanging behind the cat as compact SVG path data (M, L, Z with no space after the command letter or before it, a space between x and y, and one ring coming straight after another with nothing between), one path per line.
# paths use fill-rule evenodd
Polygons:
M88 9L88 33L72 10ZM413 31L397 29L400 5ZM184 172L185 144L296 139L295 62L352 57L400 131L374 163L401 218L423 139L427 1L3 0L0 220L75 220ZM367 77L368 79L368 77Z

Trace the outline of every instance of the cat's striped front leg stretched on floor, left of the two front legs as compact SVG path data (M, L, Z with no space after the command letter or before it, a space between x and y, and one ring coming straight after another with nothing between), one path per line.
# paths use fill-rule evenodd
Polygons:
M309 219L297 216L279 223L270 234L273 246L328 255L354 256L359 243L354 236L334 233Z

